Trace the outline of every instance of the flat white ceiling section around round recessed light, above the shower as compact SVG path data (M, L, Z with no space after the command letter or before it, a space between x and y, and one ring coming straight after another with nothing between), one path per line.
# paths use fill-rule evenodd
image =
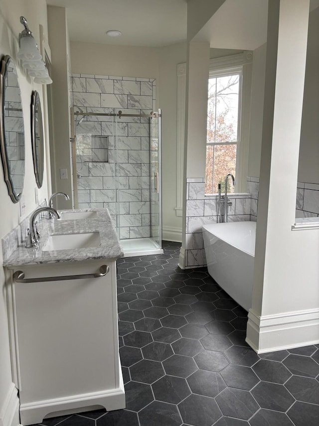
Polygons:
M165 46L186 39L186 0L46 0L66 8L72 41ZM109 37L119 29L120 37Z

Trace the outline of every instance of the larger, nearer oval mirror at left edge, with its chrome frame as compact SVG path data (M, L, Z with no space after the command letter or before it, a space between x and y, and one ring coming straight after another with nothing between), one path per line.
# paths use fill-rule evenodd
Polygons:
M8 55L1 61L0 72L0 149L4 181L17 203L24 182L24 124L16 68Z

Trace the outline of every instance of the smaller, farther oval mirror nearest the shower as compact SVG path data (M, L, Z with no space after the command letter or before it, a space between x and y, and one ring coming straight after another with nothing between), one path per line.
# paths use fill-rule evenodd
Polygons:
M34 90L31 99L31 141L35 180L38 188L43 182L43 123L39 93Z

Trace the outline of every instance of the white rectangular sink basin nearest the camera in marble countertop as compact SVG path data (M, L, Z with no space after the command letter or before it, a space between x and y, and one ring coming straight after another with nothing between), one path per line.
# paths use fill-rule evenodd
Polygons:
M72 250L86 247L99 247L101 245L99 232L86 232L83 234L50 235L42 247L43 251Z

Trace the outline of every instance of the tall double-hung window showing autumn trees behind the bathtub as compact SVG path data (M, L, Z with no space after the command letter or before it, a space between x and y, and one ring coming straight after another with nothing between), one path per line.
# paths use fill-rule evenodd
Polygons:
M211 71L208 80L205 194L225 191L227 173L236 176L241 127L242 67ZM234 192L229 185L228 192Z

